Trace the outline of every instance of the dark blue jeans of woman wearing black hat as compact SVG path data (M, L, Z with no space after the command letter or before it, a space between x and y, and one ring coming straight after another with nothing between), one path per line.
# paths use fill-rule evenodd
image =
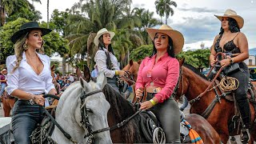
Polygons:
M38 123L42 122L42 108L30 105L29 101L18 100L14 105L12 130L15 144L30 144L30 135Z

